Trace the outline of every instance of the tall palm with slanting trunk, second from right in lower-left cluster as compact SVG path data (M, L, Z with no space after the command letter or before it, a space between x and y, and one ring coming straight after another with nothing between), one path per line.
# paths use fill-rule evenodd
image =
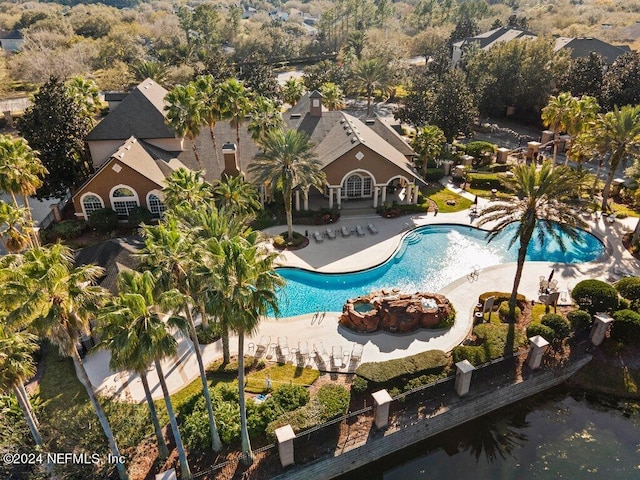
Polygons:
M222 448L222 443L213 416L207 374L192 315L192 307L198 306L204 301L203 298L200 298L201 289L198 288L202 286L202 283L194 278L195 269L200 263L200 251L197 244L185 235L171 214L166 215L164 222L160 225L143 227L143 237L145 239L143 261L156 278L157 292L175 288L182 295L182 309L187 319L186 333L196 355L200 380L202 381L202 393L207 405L211 446L217 452Z

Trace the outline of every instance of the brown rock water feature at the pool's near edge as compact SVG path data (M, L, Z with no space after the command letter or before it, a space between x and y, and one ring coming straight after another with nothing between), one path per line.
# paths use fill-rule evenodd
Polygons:
M455 310L443 295L393 289L347 300L340 324L356 332L408 333L419 328L448 327L454 319Z

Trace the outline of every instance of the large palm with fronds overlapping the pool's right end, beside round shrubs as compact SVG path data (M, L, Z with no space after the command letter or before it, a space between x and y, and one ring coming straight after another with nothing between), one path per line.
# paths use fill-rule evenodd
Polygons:
M516 296L522 277L527 248L533 234L542 240L545 234L552 236L564 248L563 234L570 239L578 238L578 226L584 222L573 209L562 201L573 188L571 171L566 167L554 169L551 162L545 162L536 170L535 163L519 165L513 170L513 189L518 195L509 201L492 203L482 210L478 225L495 223L487 237L493 240L510 225L517 225L509 247L519 242L516 275L513 281L509 308L515 313ZM538 227L537 232L534 232Z

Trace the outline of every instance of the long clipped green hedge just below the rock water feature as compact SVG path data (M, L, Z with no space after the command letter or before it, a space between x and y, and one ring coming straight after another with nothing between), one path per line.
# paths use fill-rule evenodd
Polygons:
M447 364L448 360L443 351L429 350L386 362L363 363L356 369L356 374L365 380L381 384L400 377L416 376L428 372L437 373Z

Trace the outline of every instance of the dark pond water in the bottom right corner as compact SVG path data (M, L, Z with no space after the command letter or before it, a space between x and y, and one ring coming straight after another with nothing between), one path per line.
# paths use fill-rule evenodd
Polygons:
M340 478L640 479L640 410L559 387Z

